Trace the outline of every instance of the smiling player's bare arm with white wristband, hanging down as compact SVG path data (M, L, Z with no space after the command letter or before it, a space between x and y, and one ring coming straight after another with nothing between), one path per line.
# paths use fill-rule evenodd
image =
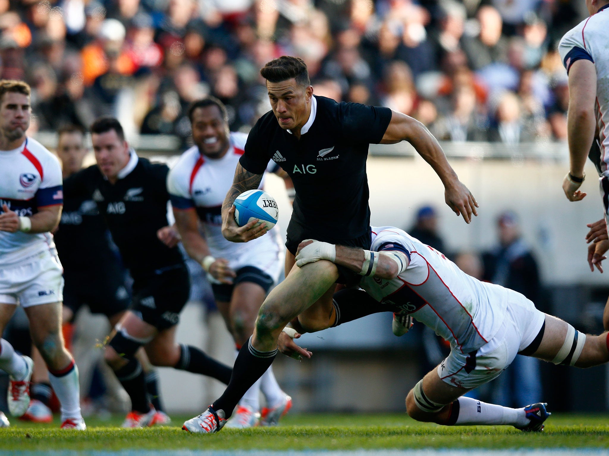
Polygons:
M219 282L233 283L236 274L228 267L228 261L225 258L214 258L209 252L207 241L199 231L199 219L195 209L173 209L175 226L188 256Z

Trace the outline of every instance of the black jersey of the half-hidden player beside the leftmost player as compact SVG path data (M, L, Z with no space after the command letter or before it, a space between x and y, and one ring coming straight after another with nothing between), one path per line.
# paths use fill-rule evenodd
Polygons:
M114 268L118 257L110 246L110 233L93 201L93 192L73 192L72 178L63 181L67 185L63 190L62 219L54 233L63 269L69 273L96 274Z

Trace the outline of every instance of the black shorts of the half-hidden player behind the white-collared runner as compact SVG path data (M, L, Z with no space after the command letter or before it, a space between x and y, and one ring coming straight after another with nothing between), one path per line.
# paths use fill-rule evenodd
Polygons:
M110 270L108 274L94 277L64 272L63 279L63 305L74 315L86 304L91 313L110 318L127 310L131 303L124 277L119 272Z

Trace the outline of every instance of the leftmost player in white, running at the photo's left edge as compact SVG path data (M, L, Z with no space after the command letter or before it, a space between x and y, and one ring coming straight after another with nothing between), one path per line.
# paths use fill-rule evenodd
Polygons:
M62 429L85 429L78 369L61 333L63 270L50 233L62 212L62 170L43 145L26 137L30 114L30 87L0 81L0 334L16 306L23 306L62 405ZM10 375L14 416L29 406L32 365L0 339L0 368Z

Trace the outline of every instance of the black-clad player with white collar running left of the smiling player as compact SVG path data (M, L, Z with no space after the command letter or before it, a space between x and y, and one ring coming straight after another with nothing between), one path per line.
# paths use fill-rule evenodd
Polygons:
M132 421L132 427L152 426L155 410L135 357L139 347L144 347L153 365L205 374L225 383L231 369L198 348L175 342L190 287L184 259L165 230L169 168L138 157L116 119L96 120L91 141L97 165L74 174L66 192L93 195L133 277L132 305L116 325L104 358L131 398L132 412L126 421Z

